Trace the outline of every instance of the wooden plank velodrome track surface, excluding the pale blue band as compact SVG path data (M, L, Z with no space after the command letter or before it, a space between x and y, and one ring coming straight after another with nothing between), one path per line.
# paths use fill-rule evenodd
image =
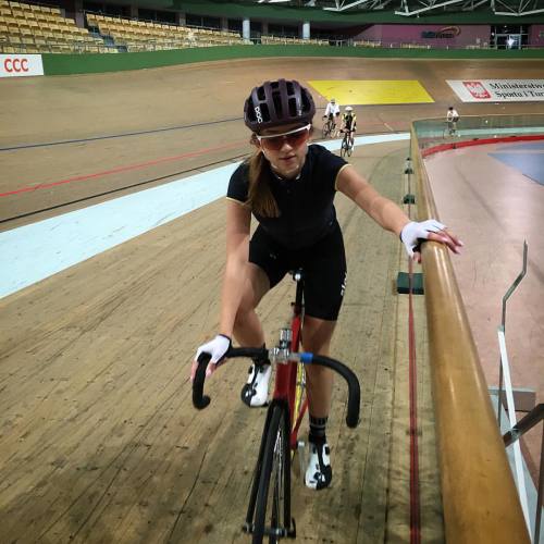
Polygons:
M537 78L542 69L542 61L272 59L4 79L0 148L22 147L0 151L0 193L36 190L0 198L0 220L20 217L0 226L247 153L243 100L267 78L419 79L435 103L357 108L361 133L386 133L443 116L455 102L446 78ZM461 108L491 114L541 106ZM65 140L77 141L28 147ZM360 148L353 163L398 202L407 149ZM96 195L103 196L89 199ZM407 542L407 304L394 289L405 259L398 240L345 198L337 209L349 280L332 351L361 380L361 423L345 428L338 381L329 431L334 485L311 493L295 480L298 535ZM188 382L195 348L217 327L223 224L219 200L0 300L1 542L247 542L239 528L264 411L239 401L245 362L210 380L212 405L203 412L191 408ZM269 344L290 293L285 281L262 302ZM423 542L442 542L421 300L416 320L422 534Z

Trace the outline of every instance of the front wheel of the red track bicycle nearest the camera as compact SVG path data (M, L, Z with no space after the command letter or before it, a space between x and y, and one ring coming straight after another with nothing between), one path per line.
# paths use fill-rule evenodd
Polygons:
M272 408L257 491L252 544L276 544L290 530L289 418L286 405ZM270 527L267 527L267 518ZM277 531L277 532L274 532Z

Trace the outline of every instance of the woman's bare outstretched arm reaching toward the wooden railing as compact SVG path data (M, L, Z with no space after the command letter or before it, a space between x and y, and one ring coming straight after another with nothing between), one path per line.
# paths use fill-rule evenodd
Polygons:
M353 166L345 166L336 178L336 188L366 211L379 225L397 235L410 222L392 200L383 197Z

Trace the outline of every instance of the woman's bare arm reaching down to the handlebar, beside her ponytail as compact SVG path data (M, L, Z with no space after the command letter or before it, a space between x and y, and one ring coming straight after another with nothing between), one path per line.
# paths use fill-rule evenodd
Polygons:
M226 265L221 289L219 331L233 335L234 320L242 300L249 256L251 212L240 202L226 201Z

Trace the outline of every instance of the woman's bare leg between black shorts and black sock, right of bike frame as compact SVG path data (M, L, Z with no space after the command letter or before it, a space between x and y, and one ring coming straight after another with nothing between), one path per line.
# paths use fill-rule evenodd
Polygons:
M306 317L302 344L306 351L329 356L331 338L336 321ZM309 412L314 418L326 418L331 408L333 372L330 369L309 364L306 367Z

